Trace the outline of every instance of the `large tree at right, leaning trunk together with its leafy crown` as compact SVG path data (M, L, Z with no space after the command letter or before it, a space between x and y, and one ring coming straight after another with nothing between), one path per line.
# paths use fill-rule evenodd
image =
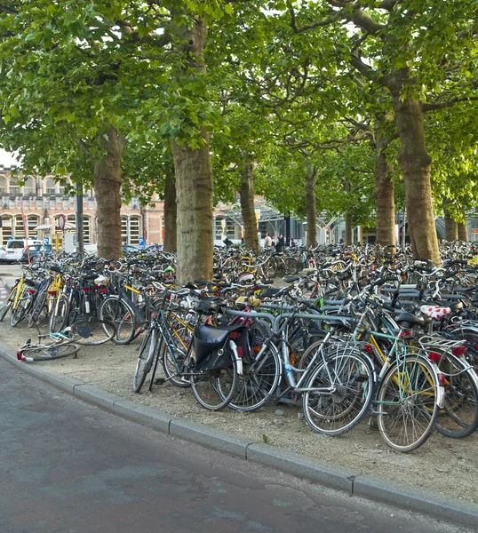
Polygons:
M323 0L301 3L298 12L294 3L289 7L291 28L297 35L312 32L316 38L325 27L348 28L348 48L342 50L339 60L347 59L371 84L389 91L401 141L398 161L405 183L412 248L419 257L438 263L431 158L426 150L423 115L457 99L470 98L473 84L457 72L473 72L473 6L460 0L450 0L440 10L424 0L363 4ZM433 102L424 101L430 97Z

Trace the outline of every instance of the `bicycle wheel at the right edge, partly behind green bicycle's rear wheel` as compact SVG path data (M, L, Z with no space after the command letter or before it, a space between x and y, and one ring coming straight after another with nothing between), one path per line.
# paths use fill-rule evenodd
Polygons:
M478 378L454 355L443 354L438 368L445 377L445 402L435 427L446 437L462 439L478 427Z

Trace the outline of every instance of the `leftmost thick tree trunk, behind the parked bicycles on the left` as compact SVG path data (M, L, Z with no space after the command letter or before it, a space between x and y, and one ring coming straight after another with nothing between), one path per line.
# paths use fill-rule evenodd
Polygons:
M98 219L98 255L118 259L123 255L121 237L121 157L125 140L110 127L100 142L106 154L94 162L94 190Z

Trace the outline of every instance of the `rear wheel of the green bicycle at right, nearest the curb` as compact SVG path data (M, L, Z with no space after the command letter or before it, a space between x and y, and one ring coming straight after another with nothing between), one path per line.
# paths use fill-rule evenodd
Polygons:
M439 406L434 369L421 355L406 355L378 386L378 430L390 448L409 452L434 430Z

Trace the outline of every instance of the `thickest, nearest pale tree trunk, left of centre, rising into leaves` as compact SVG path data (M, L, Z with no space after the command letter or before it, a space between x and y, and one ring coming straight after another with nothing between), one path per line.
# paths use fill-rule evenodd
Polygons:
M207 28L200 17L194 25L175 28L183 52L183 76L190 80L195 72L205 71L203 49ZM179 80L180 81L180 80ZM212 171L209 133L201 128L202 147L191 148L187 143L172 141L176 176L177 218L177 282L212 279Z

